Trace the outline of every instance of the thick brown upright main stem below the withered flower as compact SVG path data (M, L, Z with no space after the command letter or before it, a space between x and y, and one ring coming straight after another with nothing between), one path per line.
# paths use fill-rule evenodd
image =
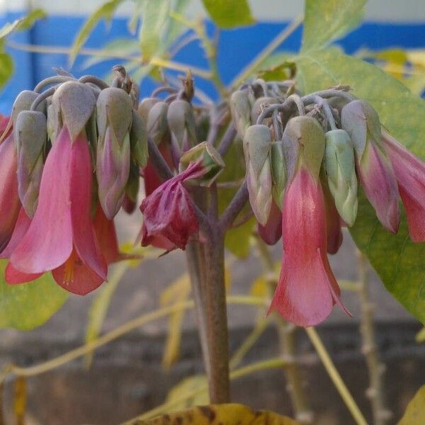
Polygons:
M225 238L218 226L211 227L205 242L206 323L210 353L210 403L228 403L229 341L225 289Z

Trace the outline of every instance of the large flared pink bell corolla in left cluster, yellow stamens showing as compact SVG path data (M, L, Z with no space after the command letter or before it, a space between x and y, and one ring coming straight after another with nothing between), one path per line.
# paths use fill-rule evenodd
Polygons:
M45 162L38 208L10 256L8 283L52 271L62 288L84 295L106 280L91 222L92 175L88 140L81 133L72 141L64 125Z

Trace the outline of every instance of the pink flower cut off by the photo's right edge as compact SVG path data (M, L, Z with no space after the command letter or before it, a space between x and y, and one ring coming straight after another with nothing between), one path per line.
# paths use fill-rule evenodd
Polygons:
M386 132L382 144L392 162L410 237L425 242L425 164Z

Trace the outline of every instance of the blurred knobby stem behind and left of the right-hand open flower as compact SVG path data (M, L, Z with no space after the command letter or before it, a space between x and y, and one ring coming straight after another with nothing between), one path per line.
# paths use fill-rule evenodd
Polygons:
M266 269L268 285L274 292L278 284L278 279L273 265L273 259L261 237L256 237L256 242L259 256ZM297 364L297 348L295 344L295 331L297 328L293 324L285 322L276 313L273 314L273 317L278 330L280 356L288 363L288 367L285 368L284 372L286 381L288 382L287 389L293 405L295 419L300 424L310 425L313 423L313 412L307 402L307 397L302 387L300 368Z

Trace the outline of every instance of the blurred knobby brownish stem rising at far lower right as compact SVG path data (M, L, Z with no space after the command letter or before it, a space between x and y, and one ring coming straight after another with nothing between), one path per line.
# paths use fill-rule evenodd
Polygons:
M373 424L385 425L391 419L391 412L385 407L382 377L385 365L380 362L378 346L375 342L375 329L373 326L374 305L370 302L368 290L368 270L366 259L360 251L358 256L358 295L361 304L361 338L363 355L368 365L369 387L366 395L370 399L373 412Z

